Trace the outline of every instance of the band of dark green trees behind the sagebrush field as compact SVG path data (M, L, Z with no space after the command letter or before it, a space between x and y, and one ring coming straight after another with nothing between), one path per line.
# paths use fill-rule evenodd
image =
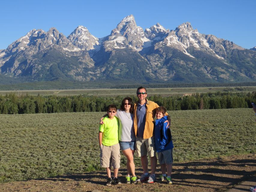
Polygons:
M0 113L105 112L109 104L115 104L119 108L124 97L0 95ZM136 96L130 97L133 101L137 101ZM167 110L251 108L251 103L256 103L256 91L252 93L218 91L195 93L187 96L171 95L168 97L154 95L147 98L156 102L159 106L166 107Z

